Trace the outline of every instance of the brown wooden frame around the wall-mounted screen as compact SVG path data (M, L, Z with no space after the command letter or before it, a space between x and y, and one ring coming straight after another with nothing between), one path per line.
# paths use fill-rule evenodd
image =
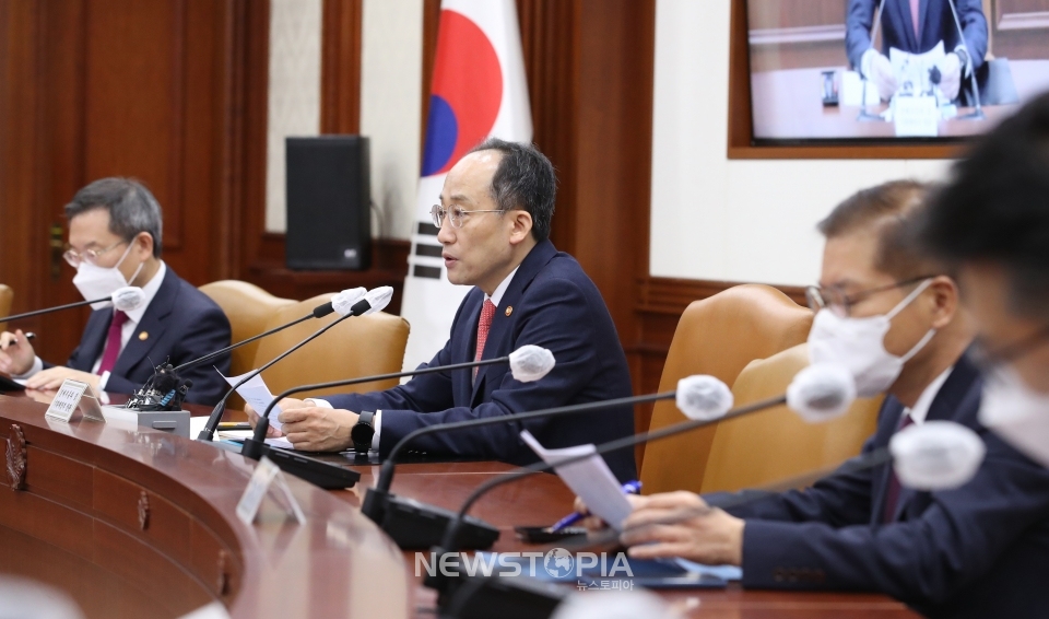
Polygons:
M732 0L729 35L729 159L953 159L964 143L755 145L746 0Z

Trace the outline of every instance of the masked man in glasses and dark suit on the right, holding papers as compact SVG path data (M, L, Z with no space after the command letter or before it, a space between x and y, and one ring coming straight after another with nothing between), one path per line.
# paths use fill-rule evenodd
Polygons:
M834 350L817 334L849 339L840 351L853 354L837 361L857 376L858 392L887 389L864 453L911 423L950 420L985 441L976 476L919 492L883 464L782 494L641 497L622 537L632 556L741 565L746 587L877 591L935 617L1045 615L1049 471L977 421L982 383L964 357L973 322L955 282L935 275L942 267L903 241L923 191L910 182L861 191L821 224L823 275L810 299L834 318L817 315L810 352ZM868 342L860 325L879 323L887 330L873 329ZM859 341L867 350L857 351Z

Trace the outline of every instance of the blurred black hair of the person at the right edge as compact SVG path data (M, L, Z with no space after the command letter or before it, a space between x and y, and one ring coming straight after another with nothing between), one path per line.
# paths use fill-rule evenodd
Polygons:
M1012 310L1049 315L1049 94L1024 105L954 164L917 236L950 264L1001 265Z

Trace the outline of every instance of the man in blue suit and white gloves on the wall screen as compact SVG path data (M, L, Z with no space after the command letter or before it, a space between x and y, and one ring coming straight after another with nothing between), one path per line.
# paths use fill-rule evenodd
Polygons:
M893 66L886 58L889 48L923 54L943 42L946 58L940 68L940 89L948 100L957 98L962 80L977 71L987 55L987 20L980 0L884 0L879 52L871 40L871 26L881 2L849 0L845 24L849 62L873 80L881 97L888 101L897 89ZM958 37L950 2L955 3L965 45Z

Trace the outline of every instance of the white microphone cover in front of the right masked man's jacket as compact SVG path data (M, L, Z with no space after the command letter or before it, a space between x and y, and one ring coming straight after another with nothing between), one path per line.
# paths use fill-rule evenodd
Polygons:
M932 420L909 425L888 442L899 483L916 490L950 490L976 475L987 447L971 429Z

